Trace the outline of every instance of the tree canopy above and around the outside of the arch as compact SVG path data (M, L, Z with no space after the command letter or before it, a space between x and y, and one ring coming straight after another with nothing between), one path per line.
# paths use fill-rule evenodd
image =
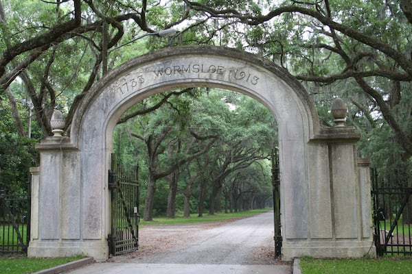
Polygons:
M0 0L2 121L7 117L1 127L19 138L49 136L49 119L58 108L69 129L84 95L106 71L155 49L213 44L286 68L312 95L322 125L330 125L330 100L345 99L350 125L363 133L360 154L382 173L402 169L408 175L411 24L407 0ZM169 28L178 32L155 35ZM146 34L154 35L139 39ZM151 110L172 97L164 98ZM243 122L243 133L253 135L255 129ZM383 153L388 146L390 157Z

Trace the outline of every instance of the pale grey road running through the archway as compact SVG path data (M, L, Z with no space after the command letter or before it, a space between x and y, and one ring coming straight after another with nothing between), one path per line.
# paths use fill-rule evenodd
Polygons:
M179 226L177 226L179 227ZM185 227L183 225L183 227ZM181 227L182 228L182 227ZM160 228L161 229L161 228ZM170 228L168 228L170 229ZM184 246L137 258L140 263L157 264L253 264L261 247L274 247L273 212L194 230ZM184 236L184 235L183 235Z

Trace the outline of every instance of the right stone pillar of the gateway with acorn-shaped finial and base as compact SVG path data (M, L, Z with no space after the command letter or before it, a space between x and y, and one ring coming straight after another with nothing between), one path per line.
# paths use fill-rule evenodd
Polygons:
M372 247L369 166L358 160L360 135L345 126L345 105L334 101L335 127L321 129L308 143L308 238L284 238L282 258L361 258ZM290 201L294 203L294 201Z

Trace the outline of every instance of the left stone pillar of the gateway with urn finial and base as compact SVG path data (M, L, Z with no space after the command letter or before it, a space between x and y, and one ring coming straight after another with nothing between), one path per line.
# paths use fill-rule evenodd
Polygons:
M81 154L70 138L62 136L63 126L52 123L54 136L36 146L41 164L32 168L32 234L27 256L84 253L104 260L108 256L106 239L90 240L82 235Z

